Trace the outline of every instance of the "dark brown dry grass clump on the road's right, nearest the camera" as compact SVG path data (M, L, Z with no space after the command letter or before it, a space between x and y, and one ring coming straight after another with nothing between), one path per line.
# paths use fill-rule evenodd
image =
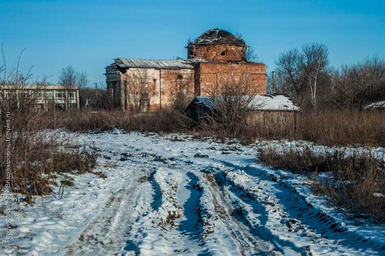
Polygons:
M316 178L314 190L326 195L337 207L354 217L385 222L385 163L370 154L345 151L314 153L310 148L290 148L278 152L259 150L260 161L296 173L330 172L328 179Z

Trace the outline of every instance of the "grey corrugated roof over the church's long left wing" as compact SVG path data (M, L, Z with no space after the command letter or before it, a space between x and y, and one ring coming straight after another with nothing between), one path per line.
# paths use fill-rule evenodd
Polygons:
M118 58L115 59L115 65L120 68L142 67L142 68L164 68L164 69L194 69L193 66L185 64L184 60L146 60Z

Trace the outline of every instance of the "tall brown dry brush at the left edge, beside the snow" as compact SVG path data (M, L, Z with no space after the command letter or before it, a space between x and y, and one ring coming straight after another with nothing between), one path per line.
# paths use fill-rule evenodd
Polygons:
M7 158L5 126L10 120L11 190L27 195L44 195L51 191L52 177L56 172L89 172L95 165L95 158L84 148L68 148L67 139L59 132L50 131L53 120L47 113L36 112L31 101L3 99L0 109L0 186L7 182ZM10 118L7 117L10 112ZM29 198L29 199L28 199Z

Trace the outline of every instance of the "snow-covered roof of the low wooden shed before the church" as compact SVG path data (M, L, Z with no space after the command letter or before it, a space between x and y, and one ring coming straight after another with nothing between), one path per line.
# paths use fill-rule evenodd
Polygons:
M213 100L208 96L197 96L200 104L211 109L214 108ZM251 107L257 111L300 111L294 101L283 94L257 95L251 102Z

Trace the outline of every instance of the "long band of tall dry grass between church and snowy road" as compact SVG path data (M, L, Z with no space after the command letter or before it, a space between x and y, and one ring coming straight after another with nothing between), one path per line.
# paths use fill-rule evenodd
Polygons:
M71 131L107 131L114 128L127 131L159 133L197 132L201 136L239 138L245 144L256 139L306 140L324 145L385 145L385 112L348 111L329 109L313 113L298 113L296 121L286 118L285 123L276 116L260 120L238 122L237 133L218 122L202 122L192 127L192 120L183 113L163 111L129 115L119 111L59 112L46 114L50 128L62 127Z

